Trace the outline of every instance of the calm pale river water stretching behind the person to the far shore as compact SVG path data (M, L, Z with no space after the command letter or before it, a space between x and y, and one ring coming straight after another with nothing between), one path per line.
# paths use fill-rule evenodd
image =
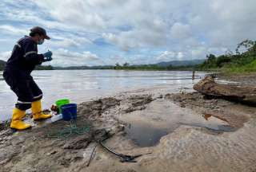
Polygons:
M181 86L191 89L205 74L197 72L194 81L192 72L178 71L54 70L34 71L32 76L44 93L44 107L49 108L62 98L81 103L99 96L155 86L178 92ZM10 118L16 99L0 72L0 120Z

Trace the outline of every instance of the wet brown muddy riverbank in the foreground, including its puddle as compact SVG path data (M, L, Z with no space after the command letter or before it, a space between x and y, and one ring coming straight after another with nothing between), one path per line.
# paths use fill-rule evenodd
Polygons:
M182 88L123 92L78 106L86 135L47 138L69 123L36 123L31 130L0 131L0 171L256 171L254 107L207 99ZM122 154L145 154L135 163L96 147L105 128L106 145ZM150 153L150 154L147 154Z

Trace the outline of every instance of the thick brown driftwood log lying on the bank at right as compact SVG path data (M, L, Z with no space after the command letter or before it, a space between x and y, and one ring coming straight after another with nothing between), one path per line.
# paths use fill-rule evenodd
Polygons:
M194 90L203 95L250 104L256 106L256 87L238 87L234 85L218 84L212 76L206 76L198 84L194 84Z

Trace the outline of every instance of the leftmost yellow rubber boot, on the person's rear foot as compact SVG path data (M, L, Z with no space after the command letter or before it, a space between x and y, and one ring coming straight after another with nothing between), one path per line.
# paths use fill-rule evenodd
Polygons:
M25 111L14 108L13 117L11 119L10 127L16 130L25 130L30 128L30 124L22 122L22 118L25 116Z

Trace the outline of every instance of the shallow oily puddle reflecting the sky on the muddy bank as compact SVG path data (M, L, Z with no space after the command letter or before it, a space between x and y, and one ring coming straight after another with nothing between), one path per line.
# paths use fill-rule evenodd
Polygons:
M156 146L162 136L181 125L202 127L216 133L237 130L224 118L210 114L198 115L170 102L153 102L144 111L134 111L124 115L121 120L126 123L126 138L139 147Z

